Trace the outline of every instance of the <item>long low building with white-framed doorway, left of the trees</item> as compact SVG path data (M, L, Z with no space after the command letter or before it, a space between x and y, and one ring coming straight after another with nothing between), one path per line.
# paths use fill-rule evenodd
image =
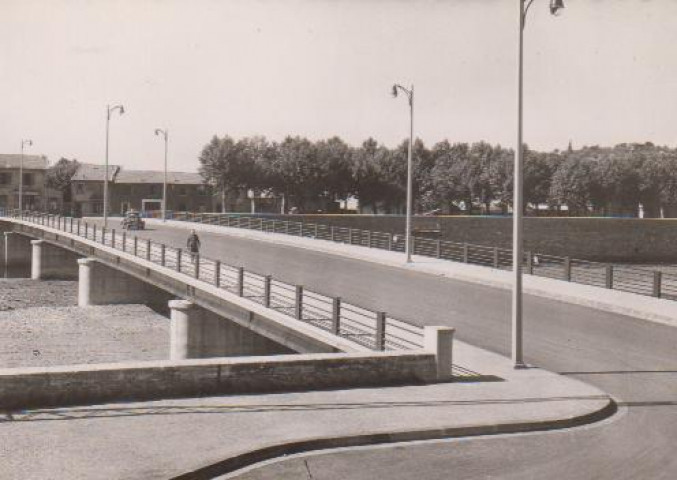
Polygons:
M163 181L162 171L118 170L110 191L110 214L162 210ZM211 189L199 173L167 172L168 211L210 212L213 203Z

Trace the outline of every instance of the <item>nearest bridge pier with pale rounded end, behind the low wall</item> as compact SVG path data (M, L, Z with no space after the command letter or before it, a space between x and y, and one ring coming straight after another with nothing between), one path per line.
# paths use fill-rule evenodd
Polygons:
M297 353L188 300L171 300L172 360Z

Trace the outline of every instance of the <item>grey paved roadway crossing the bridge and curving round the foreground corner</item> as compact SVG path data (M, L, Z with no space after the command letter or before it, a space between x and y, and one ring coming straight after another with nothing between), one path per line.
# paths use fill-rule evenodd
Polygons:
M186 230L153 227L146 235L181 247ZM509 352L508 291L266 242L200 236L210 258L420 324L451 325L469 343ZM301 268L309 262L314 268ZM621 405L618 415L568 431L313 455L305 457L312 478L677 478L677 329L531 296L524 316L527 362L611 393ZM297 458L238 478L309 476Z

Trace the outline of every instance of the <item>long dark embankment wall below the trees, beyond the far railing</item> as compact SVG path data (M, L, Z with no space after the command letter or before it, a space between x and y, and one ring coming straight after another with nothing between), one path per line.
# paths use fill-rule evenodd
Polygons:
M401 215L262 215L388 233L403 233ZM415 217L417 235L511 248L512 218ZM439 231L439 233L436 233ZM524 248L542 254L612 262L677 262L677 220L638 218L524 219Z

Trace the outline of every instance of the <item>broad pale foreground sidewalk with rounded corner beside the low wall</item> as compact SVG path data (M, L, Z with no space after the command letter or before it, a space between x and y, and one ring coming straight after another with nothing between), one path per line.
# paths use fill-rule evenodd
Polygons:
M497 378L7 414L0 477L166 479L216 466L215 476L304 450L563 428L615 412L578 380L515 370L461 342L455 357Z

